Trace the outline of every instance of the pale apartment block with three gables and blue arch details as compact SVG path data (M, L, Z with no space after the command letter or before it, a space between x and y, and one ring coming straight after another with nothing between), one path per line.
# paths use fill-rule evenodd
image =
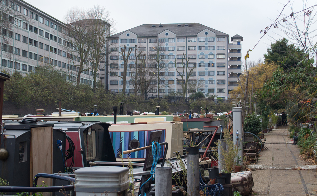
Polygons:
M189 24L144 24L110 36L110 52L108 67L108 89L114 92L122 91L122 79L118 76L123 72L123 58L119 51L127 46L142 51L145 54L147 76L159 75L159 81L152 82L154 88L148 91L151 95L167 95L171 92L183 93L179 78L179 67L183 67L184 57L189 59L188 67L194 67L188 83L186 95L192 92L216 95L222 99L230 97L238 83L241 74L241 41L243 37L235 35L229 42L229 35L209 28L199 23ZM153 51L159 51L159 63L153 63ZM129 64L137 56L135 49L131 52ZM163 69L154 73L152 67ZM128 71L129 71L128 67ZM158 69L156 69L158 70ZM177 71L178 70L178 71ZM183 74L188 74L184 73ZM126 92L134 93L131 79L133 73L126 78ZM160 88L155 85L160 83Z

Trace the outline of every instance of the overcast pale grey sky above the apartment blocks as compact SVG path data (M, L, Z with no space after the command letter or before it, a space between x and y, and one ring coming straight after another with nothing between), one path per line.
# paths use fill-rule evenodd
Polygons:
M141 24L159 23L200 23L210 28L229 34L230 38L236 34L243 37L242 56L253 48L262 34L260 30L271 24L276 19L288 0L26 0L34 7L47 14L64 21L64 15L71 8L91 8L96 4L105 7L111 12L111 17L116 21L116 32L139 26ZM303 8L302 0L291 0L295 11ZM316 4L316 1L308 1ZM285 15L291 13L289 6L283 11ZM317 29L315 27L312 27ZM250 60L263 60L275 39L283 38L283 34L276 29L271 29L260 40L256 48L250 52Z

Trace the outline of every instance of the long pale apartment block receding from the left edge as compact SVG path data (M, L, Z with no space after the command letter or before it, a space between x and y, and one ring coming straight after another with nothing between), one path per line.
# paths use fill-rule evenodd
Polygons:
M35 72L38 65L51 64L61 70L65 79L76 82L79 57L73 55L73 46L67 41L69 39L66 34L70 24L65 24L22 0L3 0L2 3L10 9L7 15L12 25L1 29L0 69L26 75L31 71ZM105 64L105 61L101 63ZM87 61L84 68L89 66ZM80 78L81 83L92 85L92 70L82 72ZM99 79L98 73L97 81Z

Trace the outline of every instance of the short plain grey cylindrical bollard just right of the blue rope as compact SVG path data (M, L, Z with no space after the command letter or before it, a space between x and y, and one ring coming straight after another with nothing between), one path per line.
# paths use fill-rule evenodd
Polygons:
M155 195L172 195L172 168L157 167L155 169Z

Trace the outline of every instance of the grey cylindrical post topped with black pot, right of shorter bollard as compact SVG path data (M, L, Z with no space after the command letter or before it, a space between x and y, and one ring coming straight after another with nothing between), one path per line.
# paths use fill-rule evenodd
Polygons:
M199 196L199 153L198 146L187 147L187 195Z

